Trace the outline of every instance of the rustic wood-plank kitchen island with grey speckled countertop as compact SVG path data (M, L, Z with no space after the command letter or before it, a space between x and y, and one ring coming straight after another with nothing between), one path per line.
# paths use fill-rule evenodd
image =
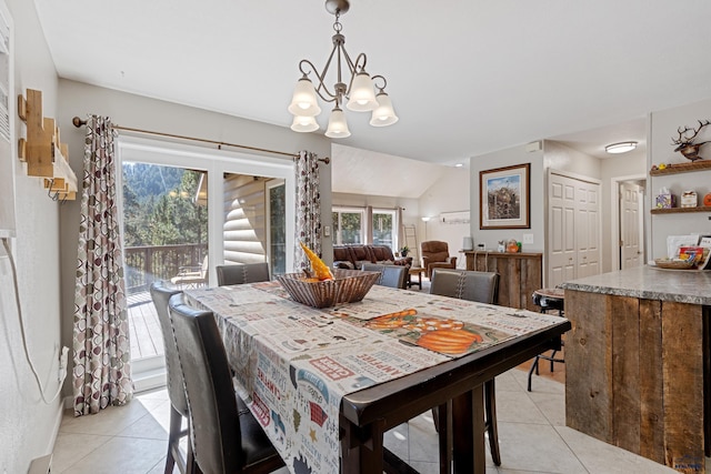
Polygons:
M565 423L680 472L705 472L711 272L640 266L561 284Z

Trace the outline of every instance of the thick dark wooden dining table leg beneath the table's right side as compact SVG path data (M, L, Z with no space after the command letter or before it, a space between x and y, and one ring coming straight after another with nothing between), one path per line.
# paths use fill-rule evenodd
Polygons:
M452 400L454 473L484 474L483 385Z

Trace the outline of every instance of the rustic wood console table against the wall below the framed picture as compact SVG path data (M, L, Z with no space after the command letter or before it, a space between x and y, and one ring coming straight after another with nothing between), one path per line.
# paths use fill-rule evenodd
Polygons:
M499 272L499 305L538 311L531 295L543 286L542 253L473 250L463 253L467 255L467 270Z

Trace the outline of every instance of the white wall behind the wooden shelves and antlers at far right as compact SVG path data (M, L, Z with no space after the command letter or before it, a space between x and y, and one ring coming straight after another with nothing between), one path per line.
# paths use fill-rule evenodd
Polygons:
M671 139L677 138L679 127L699 127L698 120L711 119L711 99L692 104L652 112L651 114L651 147L647 169L660 163L689 163L679 152L674 152ZM711 140L711 127L704 128L697 142ZM700 155L711 160L711 143L701 148ZM659 194L661 186L667 186L672 194L679 195L685 190L695 190L700 200L711 192L711 171L667 174L650 177L648 195L650 206ZM677 204L679 205L679 204ZM711 213L692 212L683 214L651 215L650 238L652 254L650 259L667 256L667 236L690 233L711 233Z

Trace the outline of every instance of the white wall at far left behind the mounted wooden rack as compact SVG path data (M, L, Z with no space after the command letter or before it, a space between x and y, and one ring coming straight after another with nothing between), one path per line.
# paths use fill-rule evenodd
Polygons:
M57 117L57 73L39 24L34 2L7 0L14 22L14 101L24 90L43 92L43 113ZM16 133L26 137L17 114ZM60 344L59 206L47 196L40 179L28 178L26 167L12 160L16 179L17 261L22 319L30 355L46 392L58 389ZM11 199L0 189L0 199ZM24 473L30 462L51 451L61 420L61 400L42 402L22 349L10 263L0 251L0 472Z

